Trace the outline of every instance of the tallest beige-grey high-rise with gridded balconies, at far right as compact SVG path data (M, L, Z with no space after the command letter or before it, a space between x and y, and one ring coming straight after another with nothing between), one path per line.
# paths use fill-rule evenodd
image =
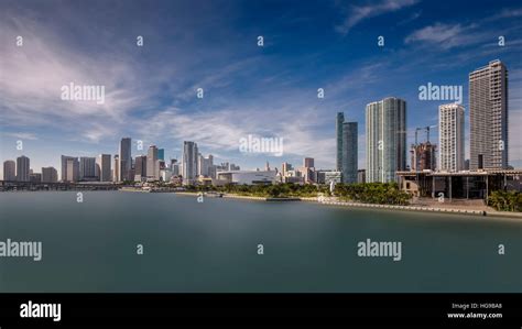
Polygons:
M469 74L469 167L508 167L508 69L500 61Z

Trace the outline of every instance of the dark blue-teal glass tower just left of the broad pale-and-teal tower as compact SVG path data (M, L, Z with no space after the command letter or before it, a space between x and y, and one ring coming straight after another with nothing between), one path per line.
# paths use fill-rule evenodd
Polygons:
M342 183L357 183L358 169L357 122L342 123Z

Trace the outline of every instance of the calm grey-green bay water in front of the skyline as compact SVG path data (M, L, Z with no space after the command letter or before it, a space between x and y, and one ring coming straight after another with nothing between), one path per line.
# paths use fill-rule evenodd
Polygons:
M522 292L522 223L483 217L2 193L0 241L8 238L42 241L43 259L0 257L0 292ZM357 256L366 239L401 241L402 261Z

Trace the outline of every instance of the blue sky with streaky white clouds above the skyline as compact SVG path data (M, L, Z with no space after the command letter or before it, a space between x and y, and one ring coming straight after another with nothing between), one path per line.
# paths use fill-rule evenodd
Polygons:
M448 102L418 100L420 86L461 85L467 110L468 74L497 58L510 76L510 163L522 166L520 1L3 0L0 18L1 160L24 154L35 172L59 168L61 154L116 154L122 136L166 158L189 140L243 168L304 156L329 168L338 111L359 122L363 168L367 103L405 99L411 143ZM70 81L104 85L106 102L62 100ZM283 156L240 153L248 134L283 138Z

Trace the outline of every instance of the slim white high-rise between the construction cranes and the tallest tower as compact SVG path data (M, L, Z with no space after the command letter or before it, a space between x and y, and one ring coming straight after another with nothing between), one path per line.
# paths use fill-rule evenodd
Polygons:
M447 172L464 169L464 107L458 103L438 107L438 168Z

